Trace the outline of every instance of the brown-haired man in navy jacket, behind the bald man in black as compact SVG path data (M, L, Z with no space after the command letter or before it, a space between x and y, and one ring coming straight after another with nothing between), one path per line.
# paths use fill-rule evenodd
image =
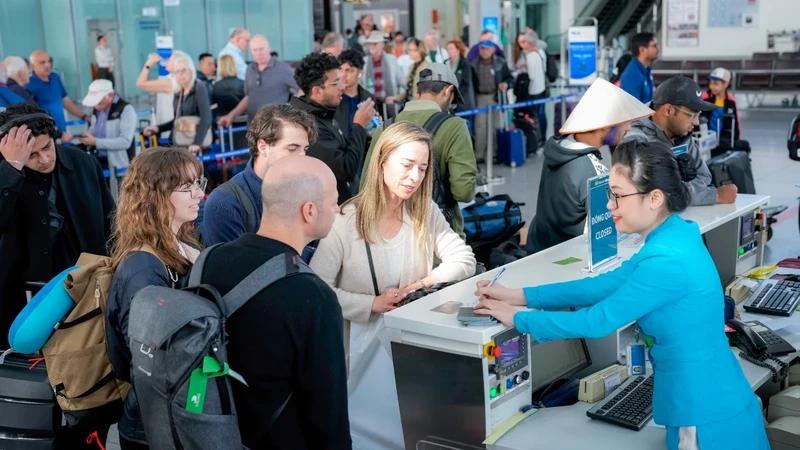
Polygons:
M261 184L275 161L305 155L317 139L317 124L308 113L289 105L261 108L247 129L250 161L243 172L215 189L205 203L200 225L206 246L255 233L261 223Z

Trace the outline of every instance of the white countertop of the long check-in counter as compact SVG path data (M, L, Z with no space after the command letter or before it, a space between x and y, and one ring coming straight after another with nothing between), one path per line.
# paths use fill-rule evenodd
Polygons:
M697 222L702 233L706 233L740 215L769 203L769 196L739 195L735 204L693 207L681 214L682 217ZM629 259L639 246L621 244L619 261ZM541 284L570 281L588 276L583 269L587 266L587 236L578 236L555 247L507 264L502 283L511 288L537 286ZM561 266L554 264L566 258L580 258L580 262ZM615 265L609 268L616 267ZM499 269L489 271L482 279L491 279ZM607 269L606 269L607 270ZM435 338L449 339L469 344L483 345L492 336L502 332L505 327L465 327L456 320L455 314L432 311L450 302L471 302L475 300L475 279L465 280L434 294L423 297L407 306L386 313L384 320L389 328L399 329Z

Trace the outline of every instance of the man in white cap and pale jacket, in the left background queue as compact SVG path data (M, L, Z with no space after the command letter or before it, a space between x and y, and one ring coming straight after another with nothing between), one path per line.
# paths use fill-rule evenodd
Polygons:
M119 95L108 80L95 80L83 105L93 108L89 130L77 138L87 150L96 150L104 168L128 167L135 155L133 138L136 134L136 110Z

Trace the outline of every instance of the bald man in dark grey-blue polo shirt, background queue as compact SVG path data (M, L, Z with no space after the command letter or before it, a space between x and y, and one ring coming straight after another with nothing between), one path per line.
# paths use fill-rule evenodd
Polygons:
M253 120L262 106L289 103L292 94L300 90L294 80L294 70L285 62L270 55L267 37L257 34L250 39L253 62L247 66L244 80L244 98L233 111L217 122L227 127L236 116L247 111L247 123Z

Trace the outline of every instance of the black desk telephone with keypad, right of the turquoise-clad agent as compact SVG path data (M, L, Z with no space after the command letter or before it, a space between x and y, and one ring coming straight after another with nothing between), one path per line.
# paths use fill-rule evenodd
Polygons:
M789 373L789 365L776 358L773 351L784 350L783 344L791 348L791 350L794 350L794 348L761 322L754 321L750 322L750 324L752 326L740 320L729 320L728 325L734 329L734 332L727 333L728 342L731 346L738 347L741 350L739 357L742 359L769 369L772 372L773 382L783 381ZM753 327L763 328L764 332L756 331ZM764 340L765 336L770 340L769 344ZM779 341L775 341L775 339ZM785 354L783 351L781 353Z

